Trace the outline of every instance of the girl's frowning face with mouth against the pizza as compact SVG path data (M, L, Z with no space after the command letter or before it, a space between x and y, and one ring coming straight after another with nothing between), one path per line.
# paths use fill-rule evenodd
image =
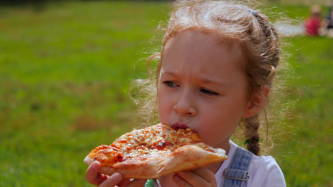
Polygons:
M229 138L250 102L234 44L214 34L182 31L164 47L158 86L161 123L194 128L202 141L229 150Z

